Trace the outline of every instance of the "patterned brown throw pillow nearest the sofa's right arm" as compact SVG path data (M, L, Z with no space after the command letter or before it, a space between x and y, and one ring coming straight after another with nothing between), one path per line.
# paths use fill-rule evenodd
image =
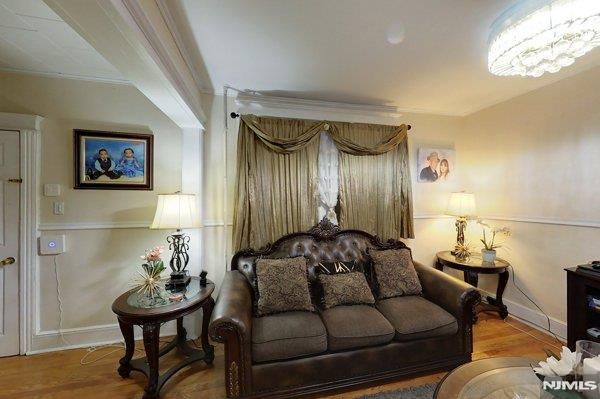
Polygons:
M380 299L421 293L419 276L408 249L371 250Z

